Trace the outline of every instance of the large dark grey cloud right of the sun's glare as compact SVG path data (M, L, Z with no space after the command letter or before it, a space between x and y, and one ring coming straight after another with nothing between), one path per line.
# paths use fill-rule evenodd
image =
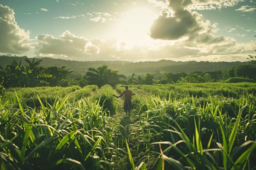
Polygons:
M202 14L188 11L184 7L191 3L189 0L169 0L170 11L162 10L150 27L150 37L161 40L178 40L191 34L213 33L217 24L211 25Z

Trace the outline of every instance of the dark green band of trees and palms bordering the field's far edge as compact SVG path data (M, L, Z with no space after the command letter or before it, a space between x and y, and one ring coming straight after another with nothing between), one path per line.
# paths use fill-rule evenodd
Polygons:
M13 60L11 64L5 67L0 66L0 84L1 89L9 87L36 87L36 86L72 86L79 85L103 85L115 86L117 84L133 85L133 84L170 84L178 82L203 83L203 82L219 82L223 79L233 77L243 77L256 80L256 56L249 55L251 59L247 65L231 67L224 70L214 71L194 71L190 74L185 72L168 72L161 73L157 70L153 73L136 76L133 73L131 76L119 74L115 69L108 68L107 65L100 67L91 67L87 69L85 75L76 79L70 79L69 75L73 73L66 66L58 67L42 67L40 63L43 60L35 61L35 58L25 59L25 65L22 65L22 60L18 63ZM170 66L172 67L172 66Z

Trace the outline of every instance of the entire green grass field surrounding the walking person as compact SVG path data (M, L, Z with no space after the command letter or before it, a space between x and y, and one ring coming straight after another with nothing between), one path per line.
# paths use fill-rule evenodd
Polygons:
M256 84L7 89L1 169L256 169ZM15 93L16 92L16 93Z

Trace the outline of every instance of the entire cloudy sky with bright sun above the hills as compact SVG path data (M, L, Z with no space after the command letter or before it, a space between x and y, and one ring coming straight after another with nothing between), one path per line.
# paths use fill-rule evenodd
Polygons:
M256 0L1 0L0 55L247 61Z

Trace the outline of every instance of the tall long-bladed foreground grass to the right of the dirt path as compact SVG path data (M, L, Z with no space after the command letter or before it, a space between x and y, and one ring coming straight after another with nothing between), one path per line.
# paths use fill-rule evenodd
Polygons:
M233 114L225 111L224 100L209 98L211 103L201 105L193 98L187 103L153 97L133 124L132 137L140 141L137 153L146 152L148 162L155 159L154 168L160 158L164 169L255 168L256 98L229 99L236 103Z

